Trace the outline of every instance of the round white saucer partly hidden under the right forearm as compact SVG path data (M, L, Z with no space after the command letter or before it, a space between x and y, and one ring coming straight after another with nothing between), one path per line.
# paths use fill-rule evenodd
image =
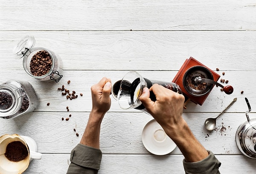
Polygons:
M176 148L175 142L166 135L163 128L152 119L142 131L142 142L144 147L155 155L166 155Z

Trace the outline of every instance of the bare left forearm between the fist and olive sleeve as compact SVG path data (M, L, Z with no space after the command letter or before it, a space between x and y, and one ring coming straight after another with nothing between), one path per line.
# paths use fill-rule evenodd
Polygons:
M80 141L81 144L99 149L100 126L104 115L93 110L90 112L87 126Z

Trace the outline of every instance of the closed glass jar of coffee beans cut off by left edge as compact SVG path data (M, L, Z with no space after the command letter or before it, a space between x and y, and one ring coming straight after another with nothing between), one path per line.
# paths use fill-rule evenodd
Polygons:
M35 110L39 99L29 82L9 80L0 84L0 118L12 119Z

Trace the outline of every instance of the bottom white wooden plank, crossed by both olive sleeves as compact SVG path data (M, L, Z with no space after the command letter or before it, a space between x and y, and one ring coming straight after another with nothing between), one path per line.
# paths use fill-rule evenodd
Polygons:
M242 155L216 155L223 174L253 174L255 160ZM69 154L44 154L34 159L24 174L64 174L70 164ZM183 174L182 155L103 155L99 174ZM54 161L54 167L52 162ZM242 166L242 167L241 167Z

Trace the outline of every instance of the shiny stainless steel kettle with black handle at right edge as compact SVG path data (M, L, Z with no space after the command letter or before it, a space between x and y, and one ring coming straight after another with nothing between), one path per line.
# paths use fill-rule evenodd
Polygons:
M248 106L245 112L247 121L243 122L236 131L236 145L246 157L256 159L256 118L249 118L251 107L247 98L245 101Z

